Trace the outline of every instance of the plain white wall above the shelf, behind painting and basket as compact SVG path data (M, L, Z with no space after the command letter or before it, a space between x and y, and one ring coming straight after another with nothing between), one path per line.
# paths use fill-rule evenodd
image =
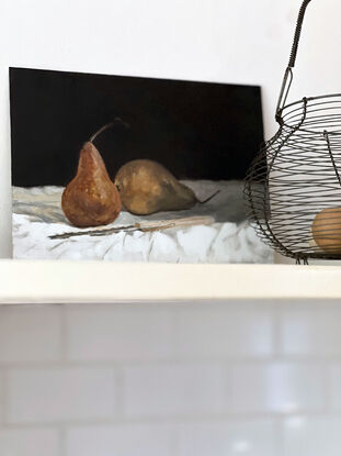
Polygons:
M9 66L261 85L270 136L299 5L299 0L1 0L0 256L11 255ZM338 0L310 4L293 97L340 91L340 18Z

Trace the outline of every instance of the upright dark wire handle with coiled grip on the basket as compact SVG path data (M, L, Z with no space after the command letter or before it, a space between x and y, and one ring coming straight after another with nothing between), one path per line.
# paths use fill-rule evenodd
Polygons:
M299 13L298 13L298 19L297 19L297 25L296 25L296 30L295 30L295 36L294 36L294 43L292 46L292 52L291 52L291 57L288 60L288 65L287 68L285 70L284 74L284 79L283 79L283 84L281 87L281 92L280 92L280 98L279 98L279 102L277 102L277 108L276 108L276 121L282 124L283 120L282 120L282 110L285 105L287 96L288 96L288 91L291 89L292 82L293 82L293 68L295 67L295 63L296 63L296 56L297 56L297 49L298 49L298 44L299 44L299 38L300 38L300 32L302 32L302 25L303 25L303 21L305 18L305 13L306 13L306 9L308 7L308 4L310 3L311 0L304 0L304 2L302 3Z

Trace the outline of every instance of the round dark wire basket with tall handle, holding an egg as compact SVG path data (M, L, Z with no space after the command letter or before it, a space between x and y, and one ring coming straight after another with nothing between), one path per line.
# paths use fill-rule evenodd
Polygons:
M298 264L341 259L341 93L285 104L310 1L298 14L276 108L280 129L251 164L245 186L259 236Z

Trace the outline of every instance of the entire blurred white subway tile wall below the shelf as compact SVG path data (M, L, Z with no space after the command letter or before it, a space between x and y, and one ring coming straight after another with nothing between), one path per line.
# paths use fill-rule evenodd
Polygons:
M0 456L334 456L340 302L0 307Z

